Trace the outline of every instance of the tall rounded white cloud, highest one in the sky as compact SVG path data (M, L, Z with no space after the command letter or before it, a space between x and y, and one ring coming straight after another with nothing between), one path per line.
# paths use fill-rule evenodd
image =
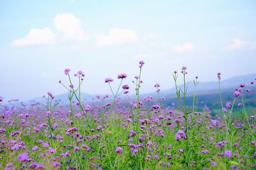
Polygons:
M81 21L72 13L60 13L54 17L54 25L62 36L72 40L84 40L86 35L81 28Z

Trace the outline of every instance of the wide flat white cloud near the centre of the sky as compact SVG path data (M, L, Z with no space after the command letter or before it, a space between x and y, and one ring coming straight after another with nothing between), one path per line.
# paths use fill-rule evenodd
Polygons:
M138 41L138 39L138 35L133 30L113 28L109 29L108 35L98 35L96 41L98 45L110 46L132 43Z

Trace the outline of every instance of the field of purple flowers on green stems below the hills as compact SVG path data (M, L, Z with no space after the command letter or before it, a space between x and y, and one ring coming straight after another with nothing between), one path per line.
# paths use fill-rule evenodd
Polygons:
M213 117L210 108L196 106L197 76L193 104L187 103L187 67L172 73L177 103L164 104L168 96L161 96L159 83L153 87L157 98L140 97L145 66L139 62L131 85L124 84L125 73L102 80L111 95L93 103L81 99L84 73L73 76L70 69L64 71L68 84L59 81L69 104L52 92L43 103L4 103L0 97L0 169L256 168L256 113L244 102L254 80L241 82L223 103L221 73L216 74L221 108L214 108L219 111ZM131 89L136 97L129 97Z

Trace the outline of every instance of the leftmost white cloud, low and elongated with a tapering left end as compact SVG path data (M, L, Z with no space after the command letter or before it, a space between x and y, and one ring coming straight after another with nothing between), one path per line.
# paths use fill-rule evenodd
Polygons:
M56 43L56 35L51 29L31 29L24 38L13 41L13 46L47 45Z

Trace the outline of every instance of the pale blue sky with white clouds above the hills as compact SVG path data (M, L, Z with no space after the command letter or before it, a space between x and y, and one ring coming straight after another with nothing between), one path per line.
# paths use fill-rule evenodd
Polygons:
M172 88L182 66L188 80L255 73L255 16L255 1L0 1L0 96L63 94L65 68L88 94L110 94L119 73L132 92L140 60L142 93Z

